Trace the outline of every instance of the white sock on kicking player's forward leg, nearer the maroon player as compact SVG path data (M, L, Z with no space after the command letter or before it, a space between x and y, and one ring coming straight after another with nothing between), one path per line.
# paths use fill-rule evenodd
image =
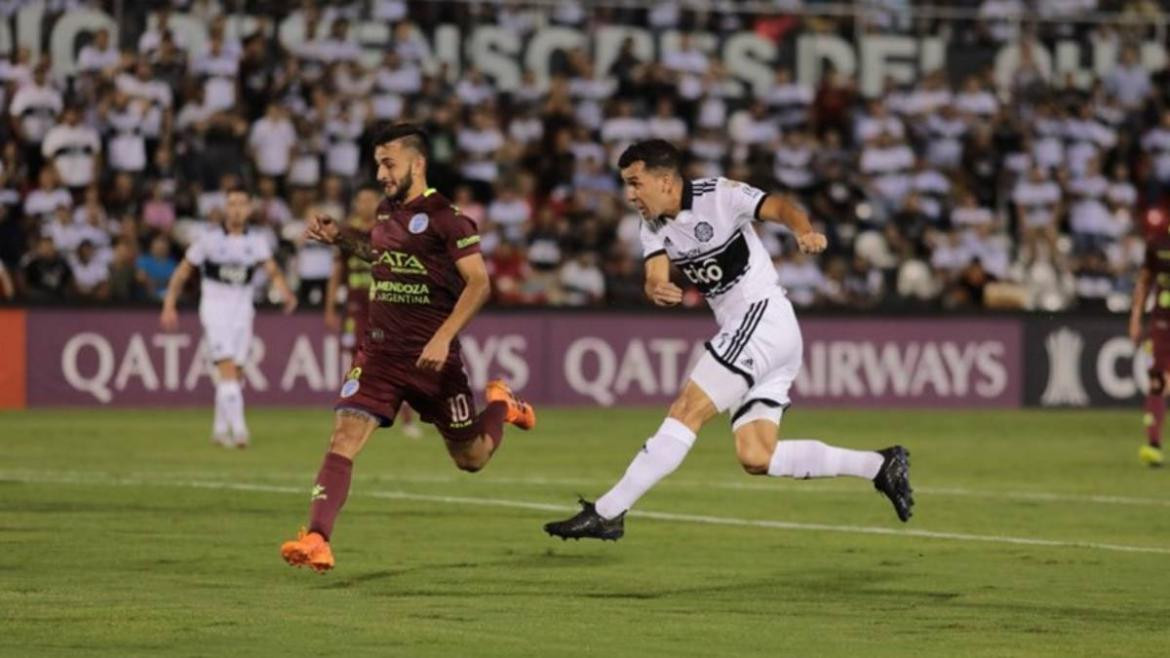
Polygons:
M605 519L613 519L633 507L642 494L682 464L693 445L695 433L674 418L667 418L634 455L626 474L612 489L597 499L597 513Z

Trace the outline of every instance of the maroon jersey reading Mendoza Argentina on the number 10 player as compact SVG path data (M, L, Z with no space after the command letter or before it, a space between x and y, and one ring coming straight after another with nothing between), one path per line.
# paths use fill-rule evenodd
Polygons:
M370 244L370 333L363 344L369 351L415 358L463 292L455 262L480 253L475 222L427 190L408 204L383 200ZM456 338L452 358L459 351Z

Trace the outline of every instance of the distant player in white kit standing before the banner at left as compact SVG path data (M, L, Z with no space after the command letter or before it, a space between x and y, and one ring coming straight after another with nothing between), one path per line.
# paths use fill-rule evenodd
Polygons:
M176 302L187 277L195 269L202 276L199 295L199 321L204 325L207 351L215 363L215 419L212 440L223 447L247 447L248 425L243 420L243 391L240 369L247 362L252 345L253 275L260 267L276 286L284 302L284 313L296 309L296 295L289 290L271 248L263 237L248 231L252 198L245 190L227 194L223 225L195 240L171 276L163 301L163 329L179 327Z

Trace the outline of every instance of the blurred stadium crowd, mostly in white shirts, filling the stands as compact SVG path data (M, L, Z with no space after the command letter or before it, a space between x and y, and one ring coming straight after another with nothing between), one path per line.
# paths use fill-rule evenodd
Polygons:
M0 2L0 13L19 5ZM830 237L820 258L758 227L800 306L1120 310L1143 229L1165 217L1170 71L1148 73L1124 47L1087 84L1046 80L1028 44L1054 26L1009 20L1024 11L1016 0L966 4L983 18L942 26L973 52L1018 40L1009 85L985 62L959 78L889 83L875 98L832 69L800 85L785 57L768 89L735 97L729 71L686 36L659 61L627 43L610 70L594 70L590 53L558 53L546 89L526 75L501 92L474 67L448 80L422 61L413 29L460 20L523 34L544 21L636 20L778 41L853 29L782 11L798 2L769 16L734 4L708 15L658 2L627 16L584 2L548 12L463 2L453 15L441 2L307 2L308 25L329 27L289 50L270 23L235 39L218 2L176 5L205 16L204 52L187 53L161 11L149 22L128 15L121 43L94 34L67 78L25 49L0 59L0 297L158 301L185 245L221 220L223 190L242 184L255 196L253 229L302 304L319 306L333 254L301 238L304 219L349 215L351 192L372 178L366 136L386 121L431 133L432 177L479 222L497 304L640 303L640 220L613 165L649 137L683 148L688 176L748 180L805 205ZM1040 5L1158 12L1142 1ZM902 4L889 7L867 29L900 29ZM393 25L373 68L349 39L363 15ZM1086 29L1128 41L1116 28ZM691 292L687 303L701 299Z

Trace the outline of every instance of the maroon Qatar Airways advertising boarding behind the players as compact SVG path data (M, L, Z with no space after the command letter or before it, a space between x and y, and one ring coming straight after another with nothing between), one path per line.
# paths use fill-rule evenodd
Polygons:
M33 406L209 404L212 368L194 314L180 330L151 311L30 310ZM1014 407L1017 320L811 318L793 402L810 406ZM474 389L509 379L541 404L665 404L716 330L701 315L494 313L464 334ZM332 402L345 357L311 315L260 314L243 369L249 404Z

